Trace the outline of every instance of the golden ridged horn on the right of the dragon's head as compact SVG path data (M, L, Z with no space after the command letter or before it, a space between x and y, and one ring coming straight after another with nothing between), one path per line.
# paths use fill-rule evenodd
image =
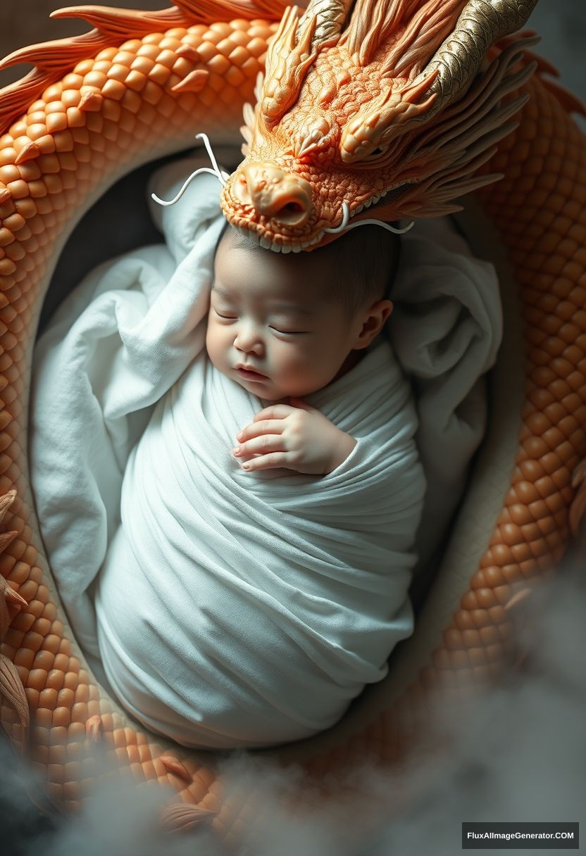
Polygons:
M488 48L523 27L536 4L537 0L469 0L453 32L416 78L439 71L429 87L429 93L438 98L426 122L458 98L474 79Z

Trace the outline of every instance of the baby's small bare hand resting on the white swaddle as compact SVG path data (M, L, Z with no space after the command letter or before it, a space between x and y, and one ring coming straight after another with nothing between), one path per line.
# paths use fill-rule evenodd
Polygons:
M305 401L290 401L292 406L273 404L257 413L236 435L238 445L232 454L247 472L285 467L297 473L332 473L356 440Z

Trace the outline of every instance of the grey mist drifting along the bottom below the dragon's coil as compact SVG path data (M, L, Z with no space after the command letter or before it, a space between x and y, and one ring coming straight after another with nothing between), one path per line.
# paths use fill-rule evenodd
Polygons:
M453 856L466 821L586 819L586 591L578 569L538 585L530 601L517 634L521 665L466 704L438 701L427 739L403 769L367 762L329 782L325 801L316 791L299 806L296 767L279 769L254 752L221 762L226 797L249 809L236 830L236 849L225 847L210 823L188 834L164 831L159 818L172 790L124 779L108 770L105 758L99 759L103 775L78 814L44 815L27 797L36 794L42 805L42 786L3 744L2 852Z

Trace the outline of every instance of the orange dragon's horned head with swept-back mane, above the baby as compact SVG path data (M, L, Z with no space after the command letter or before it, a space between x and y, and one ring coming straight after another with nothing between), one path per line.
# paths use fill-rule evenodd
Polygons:
M225 217L276 252L313 249L366 217L458 211L515 127L506 98L535 39L497 39L536 0L311 0L286 9L244 108L245 159ZM373 210L373 206L376 206ZM374 214L375 211L375 214Z

